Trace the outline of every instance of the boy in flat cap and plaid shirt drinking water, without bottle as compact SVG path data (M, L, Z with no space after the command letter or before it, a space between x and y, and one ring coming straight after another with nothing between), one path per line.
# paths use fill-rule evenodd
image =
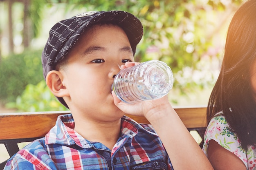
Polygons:
M112 92L120 67L135 65L143 35L135 16L124 11L81 13L58 22L49 34L42 54L43 75L72 115L58 117L45 138L9 159L6 170L211 167L166 96L126 104ZM145 116L158 134L126 113Z

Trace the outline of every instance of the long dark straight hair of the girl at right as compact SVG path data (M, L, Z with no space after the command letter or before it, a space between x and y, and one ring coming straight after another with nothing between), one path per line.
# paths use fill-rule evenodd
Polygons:
M220 75L207 107L208 123L223 111L245 150L256 144L256 99L250 74L255 57L256 0L248 0L230 22Z

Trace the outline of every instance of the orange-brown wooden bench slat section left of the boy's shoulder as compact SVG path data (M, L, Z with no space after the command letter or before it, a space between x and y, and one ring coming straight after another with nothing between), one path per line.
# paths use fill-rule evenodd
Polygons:
M0 139L44 137L55 125L58 115L70 112L0 114Z

